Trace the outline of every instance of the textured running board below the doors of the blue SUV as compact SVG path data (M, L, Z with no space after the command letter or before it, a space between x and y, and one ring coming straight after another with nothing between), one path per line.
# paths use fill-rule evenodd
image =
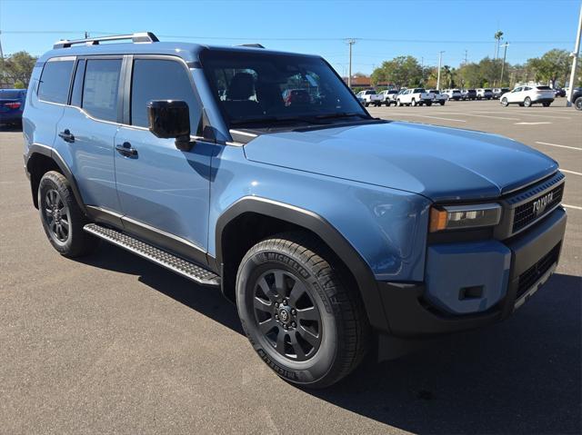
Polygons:
M150 262L155 262L170 271L179 273L198 284L211 286L220 285L220 277L216 275L216 273L207 271L193 262L186 262L186 260L177 257L170 252L166 252L152 246L151 244L137 240L123 232L118 232L117 230L101 226L97 223L88 223L83 227L83 229L100 239L111 242L129 252L134 252Z

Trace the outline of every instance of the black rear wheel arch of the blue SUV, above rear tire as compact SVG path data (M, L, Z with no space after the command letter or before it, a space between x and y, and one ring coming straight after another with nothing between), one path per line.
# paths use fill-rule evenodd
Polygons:
M67 181L71 185L71 190L75 195L75 200L78 203L79 208L86 214L85 203L83 203L83 198L79 192L75 176L59 153L51 147L39 143L33 143L28 147L28 154L26 155L25 160L26 173L30 179L30 188L35 208L38 208L37 193L41 178L48 171L56 171L65 175Z

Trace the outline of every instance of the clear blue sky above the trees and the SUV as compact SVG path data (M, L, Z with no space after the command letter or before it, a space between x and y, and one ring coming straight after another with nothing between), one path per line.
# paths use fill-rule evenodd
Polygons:
M413 55L451 66L495 55L504 33L507 62L521 64L552 48L574 50L580 0L546 1L186 1L0 0L4 54L39 55L58 39L151 31L164 41L235 45L320 54L346 75L369 74L383 61ZM503 53L500 54L502 56Z

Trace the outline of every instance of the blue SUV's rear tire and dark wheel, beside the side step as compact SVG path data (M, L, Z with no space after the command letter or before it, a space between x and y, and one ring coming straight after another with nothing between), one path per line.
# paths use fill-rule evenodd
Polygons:
M88 221L65 175L55 171L43 175L38 185L38 211L48 241L61 255L73 258L95 251L99 240L83 231Z

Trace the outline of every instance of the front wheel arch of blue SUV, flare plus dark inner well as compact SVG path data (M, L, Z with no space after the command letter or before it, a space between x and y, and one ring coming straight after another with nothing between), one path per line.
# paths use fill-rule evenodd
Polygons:
M300 230L310 232L323 242L335 260L346 266L366 308L370 324L377 330L389 331L376 279L370 267L346 238L322 216L296 206L256 196L246 196L232 204L216 222L216 263L221 270L222 292L233 301L238 262L250 246L236 249L237 239L245 238L245 223L260 222L256 242L277 232ZM254 221L253 221L254 220ZM233 243L235 246L229 246ZM242 243L247 245L248 242ZM242 252L244 251L244 252Z

